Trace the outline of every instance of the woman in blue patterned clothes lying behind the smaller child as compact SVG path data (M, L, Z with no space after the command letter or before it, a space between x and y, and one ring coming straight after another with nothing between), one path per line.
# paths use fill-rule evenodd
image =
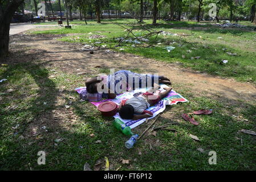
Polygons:
M131 80L132 79L132 80ZM92 77L86 81L86 90L80 93L83 100L100 101L104 98L115 98L116 94L137 88L152 88L156 84L171 84L164 76L139 74L120 70L108 76ZM98 92L101 90L101 92ZM105 90L102 93L102 90Z

